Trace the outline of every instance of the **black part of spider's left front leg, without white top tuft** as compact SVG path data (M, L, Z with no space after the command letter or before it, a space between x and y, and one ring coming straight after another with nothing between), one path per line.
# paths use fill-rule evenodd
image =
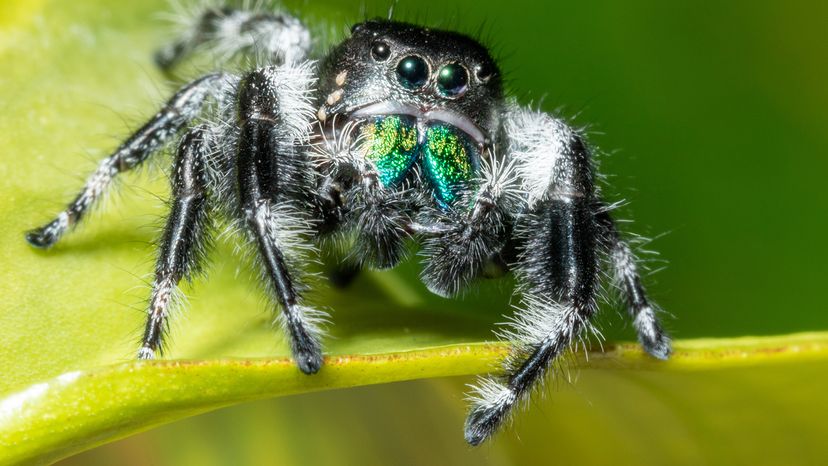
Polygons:
M296 163L292 141L285 141L284 115L279 110L285 102L278 101L278 89L261 92L268 86L272 80L265 70L249 75L240 88L239 199L266 279L282 308L280 320L293 357L302 372L313 374L322 365L318 324L323 315L301 304L296 270L289 267L286 256L291 252L286 238L301 220L279 200L286 190L295 189L291 174L301 168L291 167Z

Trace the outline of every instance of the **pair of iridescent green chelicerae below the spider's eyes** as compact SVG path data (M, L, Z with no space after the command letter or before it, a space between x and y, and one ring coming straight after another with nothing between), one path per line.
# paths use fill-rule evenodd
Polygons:
M441 208L469 188L479 168L479 151L471 138L444 122L418 124L408 115L379 116L362 126L361 137L364 156L383 186L398 186L419 163Z

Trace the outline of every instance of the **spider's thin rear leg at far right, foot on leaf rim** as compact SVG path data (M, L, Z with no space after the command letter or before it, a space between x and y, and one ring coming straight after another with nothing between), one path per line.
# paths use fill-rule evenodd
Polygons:
M670 336L661 326L656 316L655 306L650 303L647 292L641 284L635 256L630 246L621 238L615 221L605 206L601 206L598 210L596 220L601 228L604 248L609 252L612 261L616 285L626 297L633 326L638 332L638 341L653 357L667 359L672 351Z

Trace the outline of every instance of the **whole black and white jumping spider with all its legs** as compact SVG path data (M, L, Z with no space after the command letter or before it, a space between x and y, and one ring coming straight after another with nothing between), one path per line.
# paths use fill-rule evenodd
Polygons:
M477 41L367 21L313 61L309 32L285 13L208 8L188 24L156 56L163 69L210 50L227 58L255 49L266 63L181 88L63 212L26 235L33 246L52 246L115 176L177 141L140 358L162 350L173 293L199 269L214 215L236 222L255 248L308 374L322 365L316 323L324 316L303 302L302 271L322 238L353 242L351 259L377 268L396 265L414 239L423 281L443 296L514 271L520 304L502 334L514 350L504 372L471 396L471 444L491 435L591 329L602 256L641 344L669 355L581 136L506 99L497 64Z

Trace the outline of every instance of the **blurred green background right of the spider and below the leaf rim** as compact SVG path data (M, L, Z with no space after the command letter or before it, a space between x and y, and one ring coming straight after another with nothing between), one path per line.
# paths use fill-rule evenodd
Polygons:
M288 5L309 12L309 21L341 23L340 31L362 9L370 15L387 8L333 0ZM155 34L163 31L163 1L59 8L83 10L73 14L89 24L78 28L135 37L128 57L149 53L165 37ZM589 127L610 197L629 201L621 217L635 222L626 229L656 238L647 249L659 255L645 257L662 270L647 281L674 316L667 326L677 338L828 329L828 3L402 1L396 11L401 19L472 33L485 24L483 38L523 103L560 109ZM60 41L75 33L43 34ZM113 66L153 73L129 60ZM101 86L106 81L101 77ZM165 84L157 86L163 95ZM633 338L617 313L603 321L610 339ZM819 464L828 458L817 433L801 424L801 405L749 393L755 382L817 396L809 382L824 364L802 364L763 369L770 372L761 382L745 370L658 378L583 370L581 380L562 382L514 429L477 450L460 435L466 381L441 380L248 404L63 464ZM780 385L768 387L768 380ZM738 397L716 389L740 385L748 388ZM635 400L629 413L606 411L625 396ZM709 409L681 410L698 406ZM628 417L651 422L625 425ZM767 425L763 438L784 441L739 437L745 425ZM719 442L707 443L713 438Z

